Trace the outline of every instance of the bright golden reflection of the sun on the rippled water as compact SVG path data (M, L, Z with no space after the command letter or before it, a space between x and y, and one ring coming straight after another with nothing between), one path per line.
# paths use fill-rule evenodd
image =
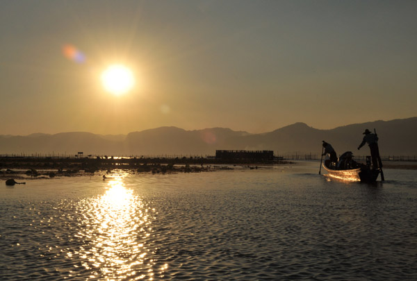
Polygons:
M122 177L108 181L103 195L85 199L77 208L82 219L75 236L82 246L67 257L78 256L81 264L75 267L81 269L70 278L88 271L92 279L153 279L156 261L148 245L153 210L124 186Z

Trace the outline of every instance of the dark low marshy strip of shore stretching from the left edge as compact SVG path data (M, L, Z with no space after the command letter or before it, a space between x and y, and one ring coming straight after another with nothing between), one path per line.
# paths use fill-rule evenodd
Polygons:
M0 179L16 180L69 176L95 176L113 171L125 173L200 173L218 170L259 169L276 164L294 164L289 161L225 162L204 157L145 158L145 157L0 157Z

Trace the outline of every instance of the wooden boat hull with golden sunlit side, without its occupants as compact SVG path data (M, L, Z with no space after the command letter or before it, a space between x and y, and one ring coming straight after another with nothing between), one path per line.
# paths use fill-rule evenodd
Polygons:
M375 182L379 175L379 170L372 170L368 167L347 170L335 170L327 167L325 163L322 167L327 171L327 176L352 182Z

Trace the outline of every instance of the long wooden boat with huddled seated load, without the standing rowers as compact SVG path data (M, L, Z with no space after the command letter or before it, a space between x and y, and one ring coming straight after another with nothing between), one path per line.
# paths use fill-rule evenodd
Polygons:
M354 162L350 151L343 153L338 163L330 162L327 157L322 167L327 171L327 176L338 180L375 182L379 175L379 169L370 169L368 165Z

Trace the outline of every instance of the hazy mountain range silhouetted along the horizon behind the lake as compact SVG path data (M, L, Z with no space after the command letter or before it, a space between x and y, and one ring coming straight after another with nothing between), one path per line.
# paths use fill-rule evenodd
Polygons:
M229 128L183 130L177 127L161 127L128 135L95 135L84 132L0 135L0 153L74 155L83 151L84 155L205 156L214 155L216 149L246 149L272 150L279 155L319 155L322 140L325 140L332 144L338 154L353 151L356 155L368 155L367 147L357 151L366 128L371 131L376 128L382 155L417 155L417 117L351 124L332 130L319 130L304 123L295 123L262 134L250 134Z

